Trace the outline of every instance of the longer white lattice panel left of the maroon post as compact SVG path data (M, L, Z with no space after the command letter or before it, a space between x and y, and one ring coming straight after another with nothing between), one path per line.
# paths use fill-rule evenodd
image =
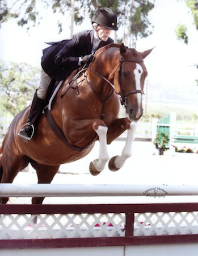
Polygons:
M124 213L2 214L0 239L82 238L125 236Z

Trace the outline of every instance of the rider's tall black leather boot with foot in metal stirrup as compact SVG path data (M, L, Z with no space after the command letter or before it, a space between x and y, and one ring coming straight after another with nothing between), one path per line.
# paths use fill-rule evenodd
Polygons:
M41 100L41 98L37 97L35 92L30 108L30 113L28 115L28 121L25 125L23 125L18 133L18 135L26 141L30 141L30 139L33 137L33 134L35 133L35 125L43 111L43 105L44 100Z

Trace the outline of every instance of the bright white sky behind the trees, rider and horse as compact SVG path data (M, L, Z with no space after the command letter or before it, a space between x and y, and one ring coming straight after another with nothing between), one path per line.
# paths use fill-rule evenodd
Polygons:
M185 93L188 92L189 102L198 102L198 87L195 84L198 69L193 66L198 63L198 32L193 27L189 9L183 1L156 0L149 20L154 26L154 32L148 38L138 40L136 49L142 52L155 47L145 59L149 72L146 82L149 84L150 100L164 100L166 92L172 92L175 101L179 94L182 94L179 100L187 100ZM30 28L29 32L26 28L18 27L15 20L3 23L0 29L0 59L40 66L42 49L47 47L44 42L69 39L69 23L69 16L65 16L64 30L58 34L56 19L52 18L49 10L45 10L41 25ZM188 46L176 39L174 30L178 23L187 24ZM75 26L74 33L86 29L91 29L89 20L80 27Z

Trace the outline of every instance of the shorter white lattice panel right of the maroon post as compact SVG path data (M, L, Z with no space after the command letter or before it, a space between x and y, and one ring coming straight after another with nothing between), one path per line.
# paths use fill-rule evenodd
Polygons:
M136 213L134 236L198 234L198 212Z

